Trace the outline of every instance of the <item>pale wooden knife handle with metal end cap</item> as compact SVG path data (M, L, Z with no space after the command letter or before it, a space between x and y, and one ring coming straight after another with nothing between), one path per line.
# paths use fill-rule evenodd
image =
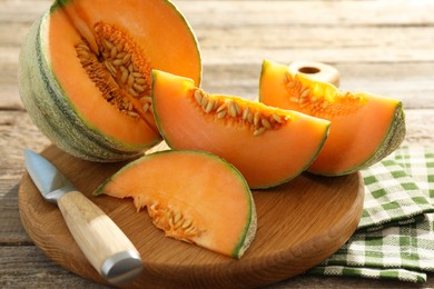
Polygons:
M127 283L141 272L139 252L98 206L79 191L60 197L58 206L73 239L107 281Z

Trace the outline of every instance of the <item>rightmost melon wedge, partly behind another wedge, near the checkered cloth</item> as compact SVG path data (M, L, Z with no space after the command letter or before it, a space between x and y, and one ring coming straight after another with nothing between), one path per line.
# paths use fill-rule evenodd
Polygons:
M365 92L344 92L287 66L265 60L259 101L327 119L331 133L310 172L339 176L364 169L394 151L405 137L400 100Z

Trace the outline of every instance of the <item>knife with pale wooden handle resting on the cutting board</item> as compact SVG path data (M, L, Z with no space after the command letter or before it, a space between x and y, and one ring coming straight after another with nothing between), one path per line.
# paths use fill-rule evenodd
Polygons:
M28 149L24 158L36 187L58 205L73 239L102 278L119 286L140 275L140 255L119 227L47 159Z

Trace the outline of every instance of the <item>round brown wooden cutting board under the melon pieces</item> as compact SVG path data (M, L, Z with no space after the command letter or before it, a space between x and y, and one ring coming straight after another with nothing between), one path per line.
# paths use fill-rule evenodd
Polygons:
M124 163L77 159L55 146L43 150L76 187L98 205L130 238L144 260L142 275L128 288L241 288L299 275L335 252L356 229L363 208L363 179L303 173L287 185L254 191L258 230L241 259L166 238L146 210L131 199L91 192ZM88 263L56 205L46 202L28 173L19 188L22 223L34 243L56 263L97 282L105 281Z

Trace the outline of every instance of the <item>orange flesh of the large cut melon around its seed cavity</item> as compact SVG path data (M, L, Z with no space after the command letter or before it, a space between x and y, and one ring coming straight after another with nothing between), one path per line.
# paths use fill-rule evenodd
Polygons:
M119 113L116 106L100 97L99 89L82 68L75 46L82 38L89 38L79 30L92 31L95 23L107 22L127 31L152 67L191 77L199 83L200 57L188 24L167 1L62 2L62 7L51 8L47 49L53 74L77 113L91 127L120 142L155 143L160 137L154 118L135 119ZM78 26L86 29L77 29Z

